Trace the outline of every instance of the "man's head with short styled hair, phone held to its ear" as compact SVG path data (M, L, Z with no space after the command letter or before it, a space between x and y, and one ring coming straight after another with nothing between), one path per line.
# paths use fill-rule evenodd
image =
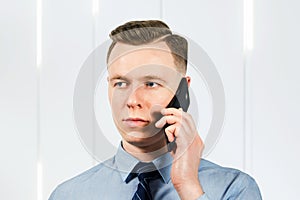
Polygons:
M165 135L154 124L186 73L187 41L156 20L128 22L110 36L108 93L123 145L162 148Z

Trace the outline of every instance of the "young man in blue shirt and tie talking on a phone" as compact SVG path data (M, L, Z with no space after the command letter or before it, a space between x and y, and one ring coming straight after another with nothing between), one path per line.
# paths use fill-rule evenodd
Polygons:
M113 158L59 185L50 200L261 199L249 175L201 159L193 118L168 106L182 78L191 83L186 39L157 20L128 22L110 37L108 94L122 142Z

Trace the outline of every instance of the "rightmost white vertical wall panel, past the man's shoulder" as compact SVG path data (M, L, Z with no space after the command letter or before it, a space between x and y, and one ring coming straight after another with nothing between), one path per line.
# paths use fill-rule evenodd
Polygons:
M298 199L299 1L255 1L253 173L265 199Z

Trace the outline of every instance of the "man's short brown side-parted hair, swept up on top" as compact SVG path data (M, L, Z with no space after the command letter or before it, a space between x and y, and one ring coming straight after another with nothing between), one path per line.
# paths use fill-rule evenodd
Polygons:
M171 50L178 71L186 73L188 42L185 38L172 34L168 25L160 20L130 21L118 26L109 36L112 43L107 52L107 63L117 42L138 46L163 41Z

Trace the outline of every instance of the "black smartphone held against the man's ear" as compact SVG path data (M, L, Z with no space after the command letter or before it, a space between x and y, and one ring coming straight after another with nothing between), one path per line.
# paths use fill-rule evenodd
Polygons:
M186 112L189 108L189 105L190 105L190 96L189 96L188 84L186 78L182 78L174 97L172 98L172 100L170 101L170 103L167 105L166 108L182 108L182 110ZM163 129L167 128L168 126L170 126L170 124L166 124L163 127ZM176 142L175 142L176 139L170 143L168 141L167 135L165 136L168 144L167 145L168 151L171 152L174 149L175 149L174 151L176 151Z

